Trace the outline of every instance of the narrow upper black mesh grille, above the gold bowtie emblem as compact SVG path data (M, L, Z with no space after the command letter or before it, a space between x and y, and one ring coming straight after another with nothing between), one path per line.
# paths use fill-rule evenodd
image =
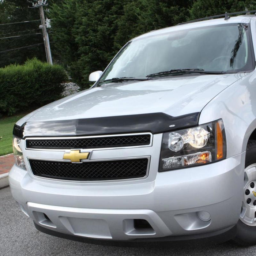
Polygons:
M27 139L27 148L101 148L150 144L150 134L77 139Z

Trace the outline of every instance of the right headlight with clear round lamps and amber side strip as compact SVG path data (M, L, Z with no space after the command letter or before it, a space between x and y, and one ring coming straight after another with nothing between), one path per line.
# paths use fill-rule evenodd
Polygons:
M163 134L159 172L203 165L226 157L222 120Z

